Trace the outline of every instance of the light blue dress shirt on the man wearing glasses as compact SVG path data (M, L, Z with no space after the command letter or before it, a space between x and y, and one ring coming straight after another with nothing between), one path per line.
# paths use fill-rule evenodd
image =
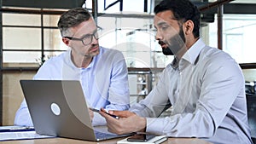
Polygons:
M93 57L86 68L74 66L71 50L44 62L34 79L79 80L87 104L108 110L127 110L130 107L128 72L124 55L115 49L100 47L99 55ZM44 89L44 88L42 88ZM94 112L93 125L106 124L105 118ZM32 126L26 101L22 101L15 115L15 125Z

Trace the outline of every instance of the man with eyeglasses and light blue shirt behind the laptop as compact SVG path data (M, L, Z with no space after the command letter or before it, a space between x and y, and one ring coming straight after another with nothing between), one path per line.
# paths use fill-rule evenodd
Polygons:
M127 110L130 93L124 56L118 50L99 46L102 28L96 26L90 12L70 9L61 14L58 28L62 42L70 49L46 60L34 79L79 80L89 107ZM99 113L89 111L93 125L106 124ZM16 112L15 125L33 125L25 100Z

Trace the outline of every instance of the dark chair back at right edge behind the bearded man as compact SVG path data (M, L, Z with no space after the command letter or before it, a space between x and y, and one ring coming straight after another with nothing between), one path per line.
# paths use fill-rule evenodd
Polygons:
M247 116L253 143L256 144L256 95L247 94Z

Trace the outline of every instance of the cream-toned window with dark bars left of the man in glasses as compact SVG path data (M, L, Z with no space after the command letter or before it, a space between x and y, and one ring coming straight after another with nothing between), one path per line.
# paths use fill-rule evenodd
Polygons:
M3 69L38 67L43 60L67 49L56 27L59 14L31 14L29 10L40 9L23 10L20 9L21 14L2 15Z

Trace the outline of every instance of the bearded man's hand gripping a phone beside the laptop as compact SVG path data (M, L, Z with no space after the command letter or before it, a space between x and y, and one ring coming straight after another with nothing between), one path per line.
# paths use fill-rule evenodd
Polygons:
M146 128L146 118L137 116L129 111L109 111L110 114L118 116L119 119L113 118L101 109L100 114L106 118L108 131L122 135L131 132L144 131Z

